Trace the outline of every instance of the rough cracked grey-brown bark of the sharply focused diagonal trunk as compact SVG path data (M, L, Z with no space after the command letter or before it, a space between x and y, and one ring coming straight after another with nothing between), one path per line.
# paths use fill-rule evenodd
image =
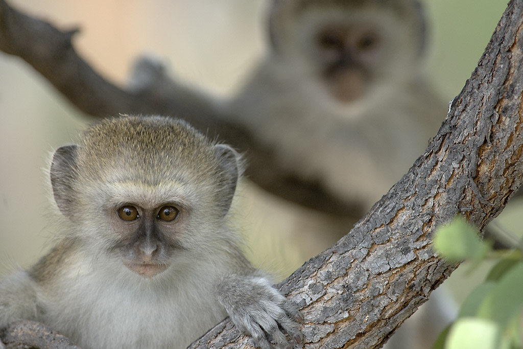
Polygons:
M461 213L483 229L521 185L522 33L523 0L511 0L425 153L353 230L278 285L303 309L306 348L380 347L456 266L431 250L436 227ZM190 347L247 344L225 319Z

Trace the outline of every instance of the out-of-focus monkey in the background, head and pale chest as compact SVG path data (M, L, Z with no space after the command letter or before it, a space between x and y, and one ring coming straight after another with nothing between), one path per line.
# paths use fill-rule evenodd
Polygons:
M416 0L274 0L270 48L226 107L283 168L363 212L427 147L447 104L423 75Z

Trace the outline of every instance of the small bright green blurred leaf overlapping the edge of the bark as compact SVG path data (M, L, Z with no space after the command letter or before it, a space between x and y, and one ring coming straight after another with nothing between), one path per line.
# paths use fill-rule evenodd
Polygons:
M480 260L491 250L491 246L479 238L477 230L461 216L438 228L434 248L449 262Z

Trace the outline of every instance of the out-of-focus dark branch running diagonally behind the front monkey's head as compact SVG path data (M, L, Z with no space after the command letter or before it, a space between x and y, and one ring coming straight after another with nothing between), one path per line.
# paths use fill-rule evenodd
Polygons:
M71 40L77 32L60 31L0 0L0 50L24 59L80 110L94 117L159 114L186 119L211 138L245 152L246 175L268 192L337 216L359 219L364 213L358 202L346 202L280 168L275 149L256 143L245 129L226 121L208 96L176 85L161 66L138 62L137 75L151 74L138 86L120 88L107 81L76 53Z

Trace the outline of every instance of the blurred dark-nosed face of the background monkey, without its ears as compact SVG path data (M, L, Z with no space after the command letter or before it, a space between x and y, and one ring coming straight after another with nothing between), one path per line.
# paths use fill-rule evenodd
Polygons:
M309 33L304 57L328 93L350 103L376 92L378 87L401 83L415 70L418 48L399 19L390 13L325 14Z

